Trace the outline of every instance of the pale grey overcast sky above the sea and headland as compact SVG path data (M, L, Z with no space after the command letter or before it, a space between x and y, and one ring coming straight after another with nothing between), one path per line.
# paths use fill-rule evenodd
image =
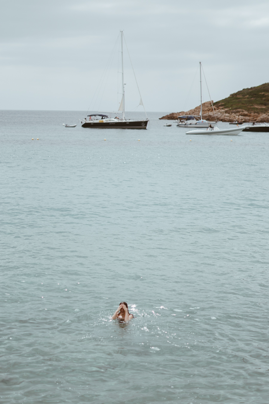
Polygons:
M117 110L120 30L147 111L196 107L199 61L213 101L269 82L268 1L9 0L0 7L0 109ZM125 44L123 54L126 109L141 111ZM210 99L204 78L202 99Z

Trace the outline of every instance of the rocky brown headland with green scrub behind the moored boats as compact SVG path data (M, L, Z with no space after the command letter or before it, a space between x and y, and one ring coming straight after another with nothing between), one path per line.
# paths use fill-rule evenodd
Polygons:
M213 102L218 121L269 122L269 83L243 88L229 97ZM199 115L200 105L189 111L173 112L159 119L176 120L180 115ZM203 119L215 121L211 101L202 104Z

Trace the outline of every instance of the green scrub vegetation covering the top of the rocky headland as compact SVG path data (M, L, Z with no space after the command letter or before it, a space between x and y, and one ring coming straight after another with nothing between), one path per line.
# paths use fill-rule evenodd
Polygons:
M243 90L215 102L215 105L219 108L231 109L234 112L244 109L247 112L266 113L269 111L269 83L243 88Z

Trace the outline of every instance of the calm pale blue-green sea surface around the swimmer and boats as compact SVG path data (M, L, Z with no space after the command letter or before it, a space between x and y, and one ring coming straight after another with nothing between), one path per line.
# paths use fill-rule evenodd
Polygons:
M268 403L269 134L84 115L0 112L0 403Z

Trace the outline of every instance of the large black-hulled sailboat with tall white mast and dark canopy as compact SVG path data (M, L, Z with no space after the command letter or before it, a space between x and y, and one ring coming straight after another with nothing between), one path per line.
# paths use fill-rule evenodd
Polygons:
M119 106L119 111L116 113L120 113L121 117L115 116L115 118L111 118L107 114L90 114L82 121L83 128L117 128L117 129L146 129L148 124L148 118L144 120L131 120L125 119L125 103L124 103L124 75L123 75L123 31L121 31L121 65L122 65L122 99L121 104ZM134 73L134 72L133 72ZM135 76L136 78L136 76ZM137 83L137 82L136 82ZM138 88L139 91L139 88ZM142 102L141 94L140 95L140 104L144 104ZM145 110L146 112L146 110Z

